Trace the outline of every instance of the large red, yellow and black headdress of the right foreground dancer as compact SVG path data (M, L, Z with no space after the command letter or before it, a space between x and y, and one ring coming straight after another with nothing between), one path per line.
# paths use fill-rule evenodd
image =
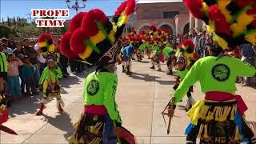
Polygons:
M195 18L206 22L207 30L222 49L245 43L256 45L255 0L184 0Z

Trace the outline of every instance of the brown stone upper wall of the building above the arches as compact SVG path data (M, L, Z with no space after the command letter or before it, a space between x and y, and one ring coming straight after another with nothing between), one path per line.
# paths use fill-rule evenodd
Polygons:
M179 14L174 18L163 18L164 12L173 11L178 11ZM189 22L189 14L183 2L141 3L138 4L134 29L139 31L143 26L154 25L159 28L168 25L172 29L172 34L182 34L184 26Z

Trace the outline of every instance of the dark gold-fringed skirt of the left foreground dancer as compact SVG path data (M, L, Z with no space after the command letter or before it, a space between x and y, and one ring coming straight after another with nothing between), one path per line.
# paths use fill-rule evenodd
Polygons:
M109 115L83 113L74 124L75 133L69 138L74 144L114 144L113 122Z

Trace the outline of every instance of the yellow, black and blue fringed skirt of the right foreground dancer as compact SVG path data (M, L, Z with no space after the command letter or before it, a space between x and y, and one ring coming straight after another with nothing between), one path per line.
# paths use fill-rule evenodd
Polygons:
M187 142L239 143L242 135L242 116L238 113L237 102L198 101L187 113L191 118L186 128Z

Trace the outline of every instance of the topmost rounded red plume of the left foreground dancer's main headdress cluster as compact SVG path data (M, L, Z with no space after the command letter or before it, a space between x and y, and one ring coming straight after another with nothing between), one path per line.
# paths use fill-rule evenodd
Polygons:
M90 36L94 36L98 33L98 26L95 21L98 21L104 26L107 22L106 14L102 10L94 9L86 13L82 18L81 27L83 30L86 30L86 33Z

